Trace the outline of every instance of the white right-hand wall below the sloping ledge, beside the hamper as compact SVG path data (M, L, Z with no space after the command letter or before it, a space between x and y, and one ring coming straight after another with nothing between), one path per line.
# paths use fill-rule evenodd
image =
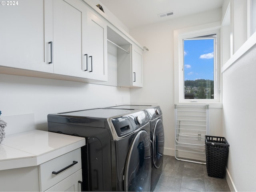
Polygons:
M256 191L256 48L222 74L223 130L230 144L227 170L237 191Z

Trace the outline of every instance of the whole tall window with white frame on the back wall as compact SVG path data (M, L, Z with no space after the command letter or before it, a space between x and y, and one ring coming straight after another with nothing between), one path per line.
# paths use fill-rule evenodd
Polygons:
M220 102L219 31L217 23L174 31L176 104Z

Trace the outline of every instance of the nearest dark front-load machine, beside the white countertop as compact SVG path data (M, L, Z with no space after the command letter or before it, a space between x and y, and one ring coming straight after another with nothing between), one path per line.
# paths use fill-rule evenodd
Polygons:
M150 124L145 110L48 114L48 130L86 138L81 148L83 191L150 190Z

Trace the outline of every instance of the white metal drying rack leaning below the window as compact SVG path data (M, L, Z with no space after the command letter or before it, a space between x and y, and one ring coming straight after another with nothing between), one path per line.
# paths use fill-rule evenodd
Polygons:
M209 134L209 104L174 105L175 158L206 164L205 135Z

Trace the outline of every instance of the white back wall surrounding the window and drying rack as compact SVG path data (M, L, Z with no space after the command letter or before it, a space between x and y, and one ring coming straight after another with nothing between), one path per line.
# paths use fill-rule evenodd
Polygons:
M143 54L143 88L130 90L131 102L158 103L163 111L164 154L174 156L174 30L221 21L222 10L130 29L130 34L149 51ZM222 134L222 109L210 109L210 130Z

